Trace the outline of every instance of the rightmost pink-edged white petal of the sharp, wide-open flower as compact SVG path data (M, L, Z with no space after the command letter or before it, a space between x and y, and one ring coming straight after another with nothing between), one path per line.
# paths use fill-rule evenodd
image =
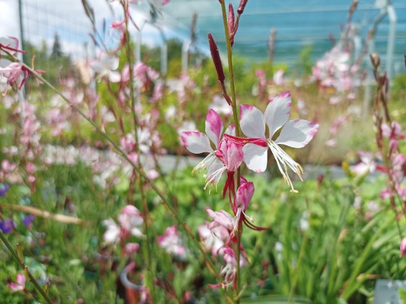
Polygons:
M290 120L283 126L281 134L275 140L278 145L304 147L318 131L318 124L307 120Z

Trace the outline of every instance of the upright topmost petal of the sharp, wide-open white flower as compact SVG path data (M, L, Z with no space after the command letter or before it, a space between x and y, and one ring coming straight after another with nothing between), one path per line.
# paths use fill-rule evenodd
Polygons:
M269 138L288 121L291 105L290 93L288 91L276 96L268 104L265 110L265 120L269 127Z

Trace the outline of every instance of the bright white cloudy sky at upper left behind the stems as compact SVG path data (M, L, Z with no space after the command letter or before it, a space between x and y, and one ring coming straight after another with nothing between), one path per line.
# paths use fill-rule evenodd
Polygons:
M85 57L85 43L90 43L89 36L92 31L90 21L85 15L85 10L81 1L59 0L55 5L52 0L25 0L23 1L23 22L25 28L25 39L36 46L40 46L42 41L52 48L55 33L58 33L62 45L62 51L71 53L73 57ZM88 0L94 10L94 16L97 21L99 32L102 32L103 20L106 22L106 32L101 33L102 38L109 40L111 21L123 20L123 8L118 1L111 3L109 0ZM196 5L196 4L194 4ZM167 7L165 7L165 10ZM185 8L186 9L186 8ZM165 15L165 20L158 20L155 24L148 22L150 20L150 8L146 1L140 6L130 6L131 15L138 27L142 27L142 43L147 45L160 45L162 43L161 29L165 38L178 37L188 38L188 35L182 36L174 28L179 24L174 24L174 20L169 20ZM0 36L14 36L20 39L20 26L18 17L18 1L0 0ZM167 25L169 24L169 25ZM137 38L137 29L130 30L133 39ZM112 38L109 41L109 47L113 48L116 43Z

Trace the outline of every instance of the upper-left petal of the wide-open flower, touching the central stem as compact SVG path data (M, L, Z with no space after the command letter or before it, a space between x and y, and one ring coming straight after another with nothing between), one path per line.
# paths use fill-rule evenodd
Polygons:
M241 104L239 106L241 131L250 138L265 138L265 119L260 110L254 106Z

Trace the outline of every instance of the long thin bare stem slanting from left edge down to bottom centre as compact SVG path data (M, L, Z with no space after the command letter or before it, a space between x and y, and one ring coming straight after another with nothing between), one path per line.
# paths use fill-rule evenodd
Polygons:
M45 80L41 75L39 75L36 71L34 71L33 68L31 68L30 66L27 66L27 64L23 63L22 61L20 61L18 58L16 58L15 56L13 56L12 54L10 54L9 52L7 52L6 50L3 50L3 52L6 52L7 55L10 56L10 58L13 59L13 61L18 62L19 64L21 64L22 66L24 66L25 68L27 68L27 71L29 71L29 73L31 75L33 75L37 80L40 80L41 82L43 82L45 85L47 85L50 89L52 89L52 91L54 91L56 94L58 94L59 96L61 96L61 98L71 107L73 108L73 110L76 110L76 112L82 116L89 124L91 124L94 129L96 129L96 131L105 139L107 140L111 146L113 147L113 150L116 151L117 154L119 154L121 157L123 157L128 164L130 164L132 166L132 168L135 169L135 171L137 171L137 173L139 175L141 175L142 178L144 178L144 180L150 185L150 187L153 189L153 191L155 191L156 194L158 194L158 196L162 199L162 203L165 205L165 207L168 209L168 211L171 213L171 215L176 219L176 221L181 224L181 226L183 226L183 228L185 229L186 233L188 233L188 236L190 237L190 239L193 241L194 245L200 250L200 252L202 253L202 255L204 256L204 259L207 261L207 263L209 264L211 270L214 272L214 275L216 275L216 278L218 280L221 280L221 275L218 273L218 270L216 270L216 266L214 265L213 260L211 259L211 257L207 254L206 250L204 249L204 247L202 247L202 245L200 244L200 242L198 240L196 240L195 236L193 235L193 231L190 229L190 227L188 226L188 224L186 222L183 222L183 220L181 219L181 217L179 217L179 215L177 215L176 211L174 210L174 207L172 207L172 205L169 205L167 203L167 197L165 196L165 194L161 191L161 189L155 184L155 182L153 182L153 180L150 180L148 178L148 176L146 175L145 171L143 168L139 168L136 164L134 164L134 162L127 156L127 154L118 146L117 143L114 142L114 140L107 134L105 133L102 129L100 129L99 126L97 126L97 124L95 122L93 122L93 120L91 120L89 117L87 117L87 115L83 112L83 110L80 110L80 108L78 108L78 106L76 106L75 104L73 104L71 101L69 101L69 99L67 99L66 96L64 96L64 94L62 94L62 92L60 92L56 87L54 87L53 85L50 84L50 82L48 82L47 80ZM228 291L225 291L223 289L221 289L225 296L228 298L228 301L230 301L230 303L233 303L234 301L232 300L232 297L230 296L230 294L228 294Z

